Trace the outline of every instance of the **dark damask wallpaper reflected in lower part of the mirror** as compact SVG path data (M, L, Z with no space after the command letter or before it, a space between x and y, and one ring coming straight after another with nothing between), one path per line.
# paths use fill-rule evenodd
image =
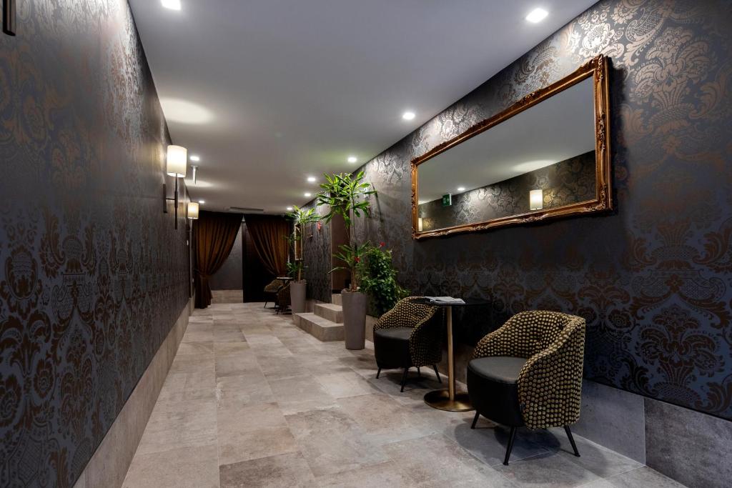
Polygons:
M543 190L543 209L595 197L595 153L589 151L513 178L452 195L452 205L432 200L419 206L422 230L475 224L529 211L529 192Z

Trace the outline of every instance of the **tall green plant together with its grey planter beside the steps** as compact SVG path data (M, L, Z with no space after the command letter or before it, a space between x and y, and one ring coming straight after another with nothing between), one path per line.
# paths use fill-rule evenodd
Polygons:
M370 245L356 242L353 224L354 219L368 215L369 197L376 195L376 191L372 189L370 183L364 181L363 171L356 176L339 173L325 175L325 178L326 182L321 184L321 192L317 195L318 206L329 206L328 213L323 219L328 223L335 215L340 215L348 232L348 244L340 246L339 252L333 255L345 265L335 269L345 268L351 274L351 285L341 292L346 348L363 349L366 345L366 296L359 290L359 263Z

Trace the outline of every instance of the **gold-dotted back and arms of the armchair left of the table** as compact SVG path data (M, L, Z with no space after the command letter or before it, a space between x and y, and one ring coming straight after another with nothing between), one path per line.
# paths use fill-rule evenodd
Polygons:
M420 296L408 296L381 315L373 330L410 327L409 356L413 366L431 366L442 360L442 314L439 307L414 303Z

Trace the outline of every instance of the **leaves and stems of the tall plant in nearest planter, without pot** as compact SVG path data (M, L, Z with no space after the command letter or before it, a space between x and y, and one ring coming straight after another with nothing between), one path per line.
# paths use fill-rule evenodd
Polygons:
M328 213L323 216L324 222L330 222L333 217L340 215L348 230L348 244L339 247L339 252L333 255L346 266L336 269L348 269L351 273L351 286L348 291L359 290L358 264L370 244L358 244L354 237L353 224L356 217L368 215L371 203L370 195L376 195L373 186L364 181L365 173L360 171L356 176L350 173L325 175L326 182L321 184L321 192L317 195L318 206L329 206Z

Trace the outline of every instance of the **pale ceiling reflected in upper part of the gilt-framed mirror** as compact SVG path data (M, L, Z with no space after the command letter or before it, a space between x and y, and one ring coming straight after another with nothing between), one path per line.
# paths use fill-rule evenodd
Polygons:
M419 202L438 200L594 150L592 78L419 165Z

